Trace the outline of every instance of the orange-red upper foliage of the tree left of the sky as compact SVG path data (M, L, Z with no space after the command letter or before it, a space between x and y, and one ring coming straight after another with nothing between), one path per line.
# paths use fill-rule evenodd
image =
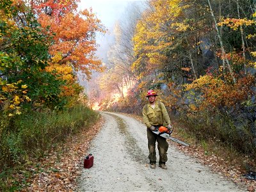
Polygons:
M38 21L45 33L54 34L54 44L49 52L54 57L61 55L58 63L71 63L76 70L82 70L90 79L92 70L104 70L95 57L97 44L95 33L105 33L104 26L92 10L77 12L77 0L49 0L45 3L31 1L33 10L39 15Z

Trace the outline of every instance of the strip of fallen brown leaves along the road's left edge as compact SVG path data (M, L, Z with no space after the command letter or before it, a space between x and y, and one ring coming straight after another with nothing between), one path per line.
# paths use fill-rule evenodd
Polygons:
M65 143L49 152L40 162L27 167L33 174L20 191L74 191L90 141L103 124L104 120L100 118L97 124L70 136Z

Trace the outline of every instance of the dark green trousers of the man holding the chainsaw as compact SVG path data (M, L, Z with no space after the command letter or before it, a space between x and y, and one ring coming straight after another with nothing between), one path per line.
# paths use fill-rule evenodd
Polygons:
M150 129L147 129L147 136L148 136L148 159L150 163L156 163L156 141L157 141L157 148L159 151L159 163L165 163L168 160L167 157L167 150L168 150L168 143L165 138L154 134Z

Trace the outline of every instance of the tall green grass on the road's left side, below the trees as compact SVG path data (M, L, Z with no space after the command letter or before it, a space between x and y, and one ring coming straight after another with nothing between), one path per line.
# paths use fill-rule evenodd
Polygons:
M29 111L8 120L1 116L0 171L42 157L46 150L97 120L84 106L67 111Z

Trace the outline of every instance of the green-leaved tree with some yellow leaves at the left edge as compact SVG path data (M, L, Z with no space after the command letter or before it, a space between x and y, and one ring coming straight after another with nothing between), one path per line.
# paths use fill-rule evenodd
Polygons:
M64 81L45 71L50 36L22 1L0 5L1 103L18 114L22 106L62 107L59 94Z

